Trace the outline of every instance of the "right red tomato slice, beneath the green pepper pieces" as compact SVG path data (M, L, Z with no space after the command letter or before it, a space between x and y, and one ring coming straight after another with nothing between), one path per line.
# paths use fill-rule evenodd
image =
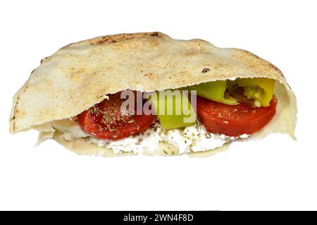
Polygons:
M266 126L276 111L277 99L273 97L269 107L249 107L222 104L197 96L197 116L200 123L211 133L228 136L251 134Z

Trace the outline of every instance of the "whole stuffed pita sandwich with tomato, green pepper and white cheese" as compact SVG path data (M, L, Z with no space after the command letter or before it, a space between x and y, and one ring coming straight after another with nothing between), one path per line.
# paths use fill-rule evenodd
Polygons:
M270 133L294 138L294 93L249 51L161 32L68 44L13 98L10 132L77 154L199 155Z

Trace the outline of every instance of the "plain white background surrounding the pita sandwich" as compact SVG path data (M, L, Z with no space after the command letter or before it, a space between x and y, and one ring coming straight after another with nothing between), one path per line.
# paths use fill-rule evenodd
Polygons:
M316 1L1 1L0 209L317 209ZM252 51L297 95L297 142L233 143L206 159L77 156L10 135L15 91L70 42L161 31ZM80 101L80 99L78 99Z

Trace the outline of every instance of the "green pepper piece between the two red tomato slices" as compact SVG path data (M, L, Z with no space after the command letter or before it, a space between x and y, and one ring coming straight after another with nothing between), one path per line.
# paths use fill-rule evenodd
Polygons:
M182 128L197 123L195 111L182 90L165 90L149 95L152 107L165 129Z

